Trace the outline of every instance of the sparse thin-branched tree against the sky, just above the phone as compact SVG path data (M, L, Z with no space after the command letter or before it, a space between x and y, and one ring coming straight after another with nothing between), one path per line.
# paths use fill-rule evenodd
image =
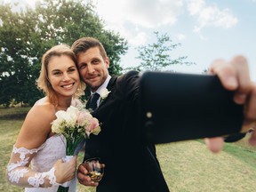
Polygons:
M177 59L172 59L170 52L180 46L180 44L172 44L172 39L167 34L159 36L158 32L154 33L156 34L156 43L139 46L136 48L136 50L139 52L139 56L136 58L142 60L142 62L139 66L132 69L139 71L159 71L162 68L170 65L192 64L191 62L183 61L187 59L187 56L181 56Z

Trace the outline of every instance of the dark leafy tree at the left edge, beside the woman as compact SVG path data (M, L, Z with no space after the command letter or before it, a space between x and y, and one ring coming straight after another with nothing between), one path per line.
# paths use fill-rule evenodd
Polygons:
M25 12L12 12L11 4L0 6L0 12L0 103L28 103L28 94L35 87L28 46L33 20Z

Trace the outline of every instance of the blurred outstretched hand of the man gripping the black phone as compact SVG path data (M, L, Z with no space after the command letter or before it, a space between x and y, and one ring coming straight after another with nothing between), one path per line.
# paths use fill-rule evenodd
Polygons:
M236 56L230 62L215 60L209 72L219 76L221 84L227 90L235 91L234 100L237 104L244 105L244 124L242 130L245 132L250 128L255 128L256 84L250 79L246 59L243 56ZM205 139L205 141L212 152L219 152L224 144L222 138ZM256 146L256 131L252 132L249 142L252 146Z

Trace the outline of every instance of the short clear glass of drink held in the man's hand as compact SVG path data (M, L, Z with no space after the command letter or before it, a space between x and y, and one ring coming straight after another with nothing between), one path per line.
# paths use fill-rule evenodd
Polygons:
M85 160L85 168L87 169L87 175L93 182L99 182L104 174L104 164L101 164L99 157L94 157Z

